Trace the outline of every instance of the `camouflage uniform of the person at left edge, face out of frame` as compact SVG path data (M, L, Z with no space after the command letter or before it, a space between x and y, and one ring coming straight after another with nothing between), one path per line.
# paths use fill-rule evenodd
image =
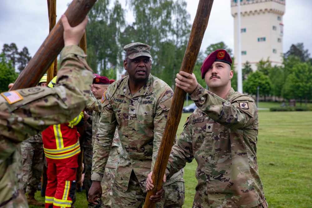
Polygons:
M56 123L79 114L88 99L92 70L78 46L66 46L54 89L32 87L0 96L0 206L28 207L22 183L20 142ZM9 104L10 94L23 99ZM6 98L5 98L6 97Z

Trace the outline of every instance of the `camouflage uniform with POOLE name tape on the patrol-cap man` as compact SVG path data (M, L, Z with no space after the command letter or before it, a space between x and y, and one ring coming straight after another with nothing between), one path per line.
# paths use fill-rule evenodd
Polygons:
M112 206L115 207L143 206L146 178L154 167L173 96L172 89L151 74L135 94L130 93L128 80L129 76L126 76L114 82L105 92L93 148L91 178L101 181L115 128L118 128L122 150L113 186ZM183 171L176 173L165 185L183 184L182 176ZM181 207L184 190L167 191L174 191L169 195L179 198L176 206ZM181 192L183 197L179 196Z

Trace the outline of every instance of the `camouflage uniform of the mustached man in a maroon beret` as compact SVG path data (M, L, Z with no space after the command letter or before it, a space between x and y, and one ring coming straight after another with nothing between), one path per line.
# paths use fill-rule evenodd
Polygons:
M222 99L200 85L191 98L198 109L172 148L166 175L195 158L193 208L267 207L256 158L259 121L254 100L233 88Z

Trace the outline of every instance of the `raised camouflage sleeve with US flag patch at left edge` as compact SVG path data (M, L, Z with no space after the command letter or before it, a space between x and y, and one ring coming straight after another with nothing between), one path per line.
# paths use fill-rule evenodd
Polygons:
M16 145L56 123L67 123L84 108L88 99L92 70L78 46L62 51L61 69L54 89L32 87L14 90L23 99L9 104L0 96L1 159L16 150ZM11 92L11 91L10 91Z

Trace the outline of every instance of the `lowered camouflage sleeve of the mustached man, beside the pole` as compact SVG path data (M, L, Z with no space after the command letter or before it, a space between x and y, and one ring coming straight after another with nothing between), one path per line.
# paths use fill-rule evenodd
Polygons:
M187 162L192 162L193 158L192 124L187 120L177 143L171 149L165 172L166 176L172 177L174 173L185 167Z

